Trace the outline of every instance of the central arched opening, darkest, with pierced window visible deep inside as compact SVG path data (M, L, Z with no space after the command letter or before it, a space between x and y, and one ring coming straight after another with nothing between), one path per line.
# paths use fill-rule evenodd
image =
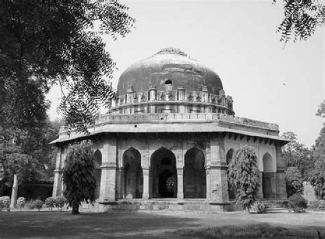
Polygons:
M152 155L150 163L152 198L176 198L176 157L171 150L160 148Z

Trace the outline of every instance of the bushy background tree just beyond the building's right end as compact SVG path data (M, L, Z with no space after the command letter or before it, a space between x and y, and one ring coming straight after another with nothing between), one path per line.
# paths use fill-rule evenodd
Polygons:
M313 170L313 153L309 148L300 144L297 135L293 132L285 132L282 137L290 142L282 147L282 158L285 161L285 166L297 167L302 179L308 181L309 174Z

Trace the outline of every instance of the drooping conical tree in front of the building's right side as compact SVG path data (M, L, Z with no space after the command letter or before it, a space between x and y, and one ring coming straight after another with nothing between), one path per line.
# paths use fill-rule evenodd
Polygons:
M256 201L260 182L254 149L243 146L236 150L228 166L228 173L230 183L236 192L236 202L250 212Z

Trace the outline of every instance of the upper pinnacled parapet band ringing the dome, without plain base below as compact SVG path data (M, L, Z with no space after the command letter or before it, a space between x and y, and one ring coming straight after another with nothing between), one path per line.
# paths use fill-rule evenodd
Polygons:
M202 91L186 91L183 87L179 87L177 90L158 91L153 86L145 92L133 92L131 88L125 95L119 95L112 99L109 112L119 112L121 109L132 106L155 104L202 105L211 109L213 107L215 109L226 109L228 114L234 115L232 97L225 95L224 90L219 91L219 95L209 93L207 87L203 87Z

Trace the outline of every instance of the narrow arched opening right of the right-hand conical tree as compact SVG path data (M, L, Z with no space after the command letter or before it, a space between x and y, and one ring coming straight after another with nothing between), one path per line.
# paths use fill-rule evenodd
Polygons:
M263 155L263 198L272 198L272 156L266 152Z

